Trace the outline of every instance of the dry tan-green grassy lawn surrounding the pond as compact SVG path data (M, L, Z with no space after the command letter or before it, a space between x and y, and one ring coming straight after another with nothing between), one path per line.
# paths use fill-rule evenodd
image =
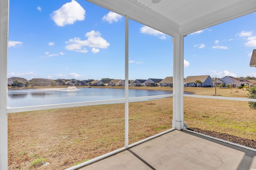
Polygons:
M215 92L214 88L184 91L208 96ZM248 93L235 91L218 88L217 95L246 98ZM256 140L256 110L248 102L185 97L184 119L189 127ZM129 144L171 127L172 98L129 103ZM9 169L64 169L121 147L124 104L8 114Z

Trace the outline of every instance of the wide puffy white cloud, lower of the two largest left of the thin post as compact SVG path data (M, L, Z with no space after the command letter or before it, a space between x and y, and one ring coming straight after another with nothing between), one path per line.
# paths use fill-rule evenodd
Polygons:
M81 40L80 37L74 37L73 39L66 41L65 43L68 44L66 49L85 53L86 51L84 50L86 49L81 50L84 46L107 49L110 45L110 43L101 37L101 33L99 31L92 30L86 33L85 36L88 37L88 39Z

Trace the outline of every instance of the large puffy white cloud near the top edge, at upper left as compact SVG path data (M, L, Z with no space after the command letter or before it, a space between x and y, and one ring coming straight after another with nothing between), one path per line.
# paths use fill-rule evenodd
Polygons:
M65 26L68 24L74 24L76 21L82 21L85 19L85 10L78 2L72 0L58 10L50 14L52 20L58 26Z

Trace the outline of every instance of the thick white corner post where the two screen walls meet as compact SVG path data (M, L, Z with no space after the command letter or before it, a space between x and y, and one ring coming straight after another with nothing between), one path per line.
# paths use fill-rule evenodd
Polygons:
M172 128L184 128L184 37L175 35L173 42L173 120Z

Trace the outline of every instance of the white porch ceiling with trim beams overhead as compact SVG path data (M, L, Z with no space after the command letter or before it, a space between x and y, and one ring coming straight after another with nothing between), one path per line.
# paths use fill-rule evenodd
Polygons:
M256 12L256 0L88 1L169 35L187 35Z

